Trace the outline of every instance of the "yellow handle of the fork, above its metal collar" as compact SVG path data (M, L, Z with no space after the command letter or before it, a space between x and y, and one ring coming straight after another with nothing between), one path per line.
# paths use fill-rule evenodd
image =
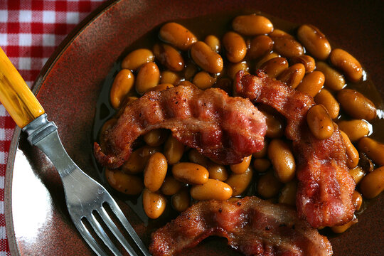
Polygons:
M44 109L21 78L11 60L0 48L0 102L11 114L18 127L44 114Z

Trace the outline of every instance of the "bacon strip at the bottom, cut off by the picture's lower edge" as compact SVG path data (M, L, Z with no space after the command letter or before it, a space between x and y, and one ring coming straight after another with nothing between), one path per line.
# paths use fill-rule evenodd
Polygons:
M210 235L227 238L245 255L332 255L329 240L295 210L255 196L196 203L152 233L149 251L176 255Z

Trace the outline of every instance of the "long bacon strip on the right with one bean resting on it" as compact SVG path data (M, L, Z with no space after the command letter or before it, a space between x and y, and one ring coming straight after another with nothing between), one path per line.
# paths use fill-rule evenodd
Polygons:
M338 127L329 139L316 139L306 124L306 112L315 105L312 97L283 82L257 75L237 74L236 92L252 102L274 107L287 119L285 134L293 141L297 159L296 206L312 227L334 226L353 218L355 182L348 174L346 149Z

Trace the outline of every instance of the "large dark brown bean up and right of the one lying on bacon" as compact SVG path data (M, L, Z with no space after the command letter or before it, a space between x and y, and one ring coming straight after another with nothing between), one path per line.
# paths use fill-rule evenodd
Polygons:
M353 118L369 121L376 117L376 107L373 102L356 90L340 90L337 94L337 100L343 110Z

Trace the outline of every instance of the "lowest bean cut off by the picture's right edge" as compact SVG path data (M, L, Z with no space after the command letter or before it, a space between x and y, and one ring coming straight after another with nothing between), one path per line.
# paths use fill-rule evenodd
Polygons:
M360 191L365 198L375 198L384 191L384 166L364 176L360 183Z

